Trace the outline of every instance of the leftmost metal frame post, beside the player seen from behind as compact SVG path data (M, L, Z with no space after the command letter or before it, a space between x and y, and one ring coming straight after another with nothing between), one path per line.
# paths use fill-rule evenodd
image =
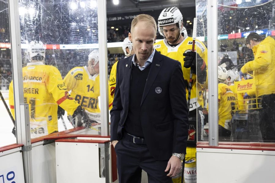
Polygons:
M23 166L26 183L32 183L31 131L28 104L24 104L22 56L18 0L9 0L9 24L13 69L13 95L17 143L23 144Z

